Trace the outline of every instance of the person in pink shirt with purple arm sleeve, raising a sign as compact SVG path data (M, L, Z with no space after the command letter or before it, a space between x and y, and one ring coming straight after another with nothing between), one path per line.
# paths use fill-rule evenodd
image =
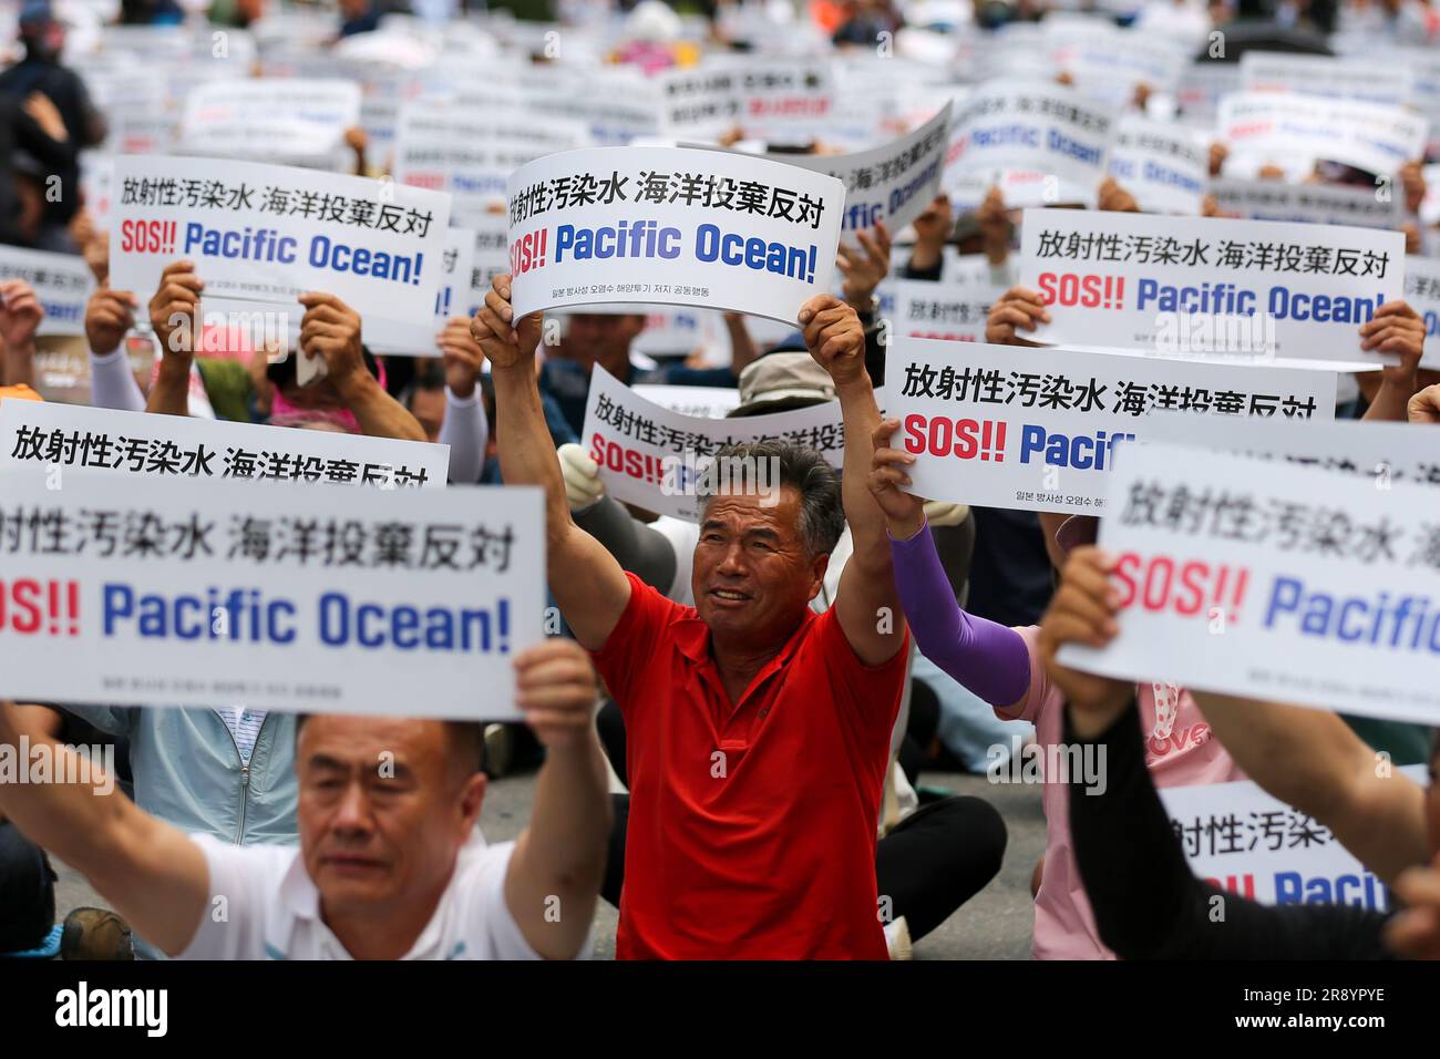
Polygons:
M946 591L935 539L926 524L923 501L900 490L910 478L904 467L914 457L888 448L900 424L887 419L874 441L870 490L886 514L896 585L906 618L920 651L962 686L995 707L996 716L1035 725L1041 743L1060 741L1060 693L1047 680L1035 654L1038 628L1011 628L975 617ZM1094 519L1066 523L1066 540L1086 530ZM1139 689L1145 719L1146 759L1165 787L1225 782L1244 778L1210 733L1189 694L1175 684L1153 683ZM1113 958L1103 947L1076 875L1066 816L1066 788L1047 777L1045 857L1035 895L1037 960Z

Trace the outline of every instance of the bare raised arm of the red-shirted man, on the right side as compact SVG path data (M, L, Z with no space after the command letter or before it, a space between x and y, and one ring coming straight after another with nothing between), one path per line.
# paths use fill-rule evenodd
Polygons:
M835 608L850 647L864 664L878 666L900 650L906 624L890 565L886 516L870 496L880 409L865 373L865 331L855 310L829 294L806 301L799 321L811 356L835 382L845 421L841 493L854 553L840 575Z

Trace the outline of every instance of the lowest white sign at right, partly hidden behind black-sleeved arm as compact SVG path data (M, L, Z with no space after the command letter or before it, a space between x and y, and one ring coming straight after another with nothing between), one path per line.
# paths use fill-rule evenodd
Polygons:
M1423 765L1398 768L1426 784ZM1312 817L1259 784L1158 791L1191 870L1261 905L1358 905L1390 911L1390 889Z

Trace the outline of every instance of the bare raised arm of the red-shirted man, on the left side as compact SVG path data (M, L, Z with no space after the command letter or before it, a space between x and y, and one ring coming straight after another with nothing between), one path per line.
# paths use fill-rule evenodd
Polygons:
M550 591L580 645L598 651L625 614L629 579L609 552L570 519L560 461L540 408L536 347L540 314L516 320L510 277L497 275L469 324L495 380L495 444L507 486L541 486Z

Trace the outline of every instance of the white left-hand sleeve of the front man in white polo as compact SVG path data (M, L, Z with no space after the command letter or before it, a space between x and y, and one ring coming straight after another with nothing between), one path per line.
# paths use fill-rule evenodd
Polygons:
M200 928L177 960L264 960L265 909L274 898L292 846L232 846L192 834L210 870L210 895Z

